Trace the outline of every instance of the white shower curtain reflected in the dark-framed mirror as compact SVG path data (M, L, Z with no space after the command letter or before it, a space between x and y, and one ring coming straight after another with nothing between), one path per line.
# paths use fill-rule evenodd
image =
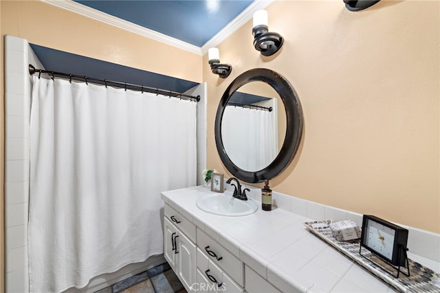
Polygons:
M226 106L221 122L225 152L241 169L258 171L278 154L278 129L274 111Z

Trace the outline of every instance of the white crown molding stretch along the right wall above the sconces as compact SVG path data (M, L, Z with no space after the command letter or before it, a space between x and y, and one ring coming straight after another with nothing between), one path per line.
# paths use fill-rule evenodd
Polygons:
M254 16L254 13L258 10L264 9L272 3L274 0L256 0L252 2L248 8L243 10L239 15L236 16L228 25L223 27L223 29L215 34L208 42L201 46L201 54L204 55L208 53L208 49L211 47L216 47L221 43L225 38L228 38L233 32L238 30L242 25L248 22ZM252 34L252 32L250 32Z

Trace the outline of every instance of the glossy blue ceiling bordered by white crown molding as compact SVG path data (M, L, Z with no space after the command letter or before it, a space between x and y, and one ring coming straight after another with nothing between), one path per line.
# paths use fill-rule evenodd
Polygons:
M119 19L201 47L252 0L80 1Z

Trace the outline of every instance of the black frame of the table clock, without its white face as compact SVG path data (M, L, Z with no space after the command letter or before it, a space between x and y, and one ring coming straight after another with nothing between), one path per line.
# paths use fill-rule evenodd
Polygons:
M368 234L366 233L366 227L369 224L369 221L377 222L379 224L382 224L384 226L387 226L388 228L391 228L395 231L395 237L394 237L394 244L393 244L393 257L392 259L389 259L385 255L382 255L379 251L369 247L366 244L366 240L368 238ZM364 218L362 219L362 233L360 237L360 248L364 247L371 251L371 253L377 255L381 259L384 259L388 263L391 263L393 266L406 266L406 244L408 244L408 230L406 228L402 228L401 226L397 226L391 222L388 222L386 220L383 220L381 218L377 218L374 215L364 215Z

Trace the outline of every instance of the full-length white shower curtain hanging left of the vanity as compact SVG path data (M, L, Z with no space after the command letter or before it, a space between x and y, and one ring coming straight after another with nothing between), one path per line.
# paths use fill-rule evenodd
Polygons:
M196 184L196 103L34 78L31 292L163 253L160 192Z

